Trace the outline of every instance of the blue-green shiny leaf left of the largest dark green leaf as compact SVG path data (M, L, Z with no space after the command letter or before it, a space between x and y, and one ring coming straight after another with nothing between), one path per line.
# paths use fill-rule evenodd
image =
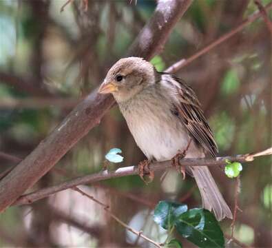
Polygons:
M154 210L154 221L164 229L170 229L180 214L186 212L187 205L162 200Z

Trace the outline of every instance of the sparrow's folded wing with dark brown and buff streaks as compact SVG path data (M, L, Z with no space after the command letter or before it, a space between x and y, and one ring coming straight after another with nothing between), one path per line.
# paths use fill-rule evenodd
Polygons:
M211 156L216 156L218 147L195 92L193 92L187 83L176 78L176 76L169 74L167 78L169 79L167 80L169 83L174 84L177 92L176 99L178 99L178 101L174 103L174 110L172 110L172 112L181 118L191 136L193 136Z

